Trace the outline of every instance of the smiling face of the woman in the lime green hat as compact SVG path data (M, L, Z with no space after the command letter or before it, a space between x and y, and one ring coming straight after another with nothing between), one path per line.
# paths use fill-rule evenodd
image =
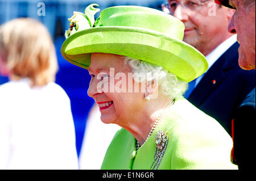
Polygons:
M92 53L88 68L89 74L92 76L88 95L98 104L101 121L106 124L122 125L124 124L123 121L131 119L138 110L142 109L143 93L141 91L112 91L113 87L115 90L120 88L121 82L122 85L126 84L128 86L128 83L131 84L128 81L128 74L131 73L131 70L129 66L124 65L123 60L123 56L117 54ZM114 70L114 73L112 70ZM117 74L125 75L125 77L117 79L115 78Z

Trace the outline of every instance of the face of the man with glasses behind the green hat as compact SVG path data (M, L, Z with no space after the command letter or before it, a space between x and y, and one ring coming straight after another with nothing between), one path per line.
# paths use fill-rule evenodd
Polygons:
M213 1L201 1L203 3L201 3L200 8L185 9L180 2L186 2L190 6L196 1L168 0L170 6L176 7L171 15L181 20L185 25L183 41L207 56L220 43L230 37L226 28L234 10L220 7Z

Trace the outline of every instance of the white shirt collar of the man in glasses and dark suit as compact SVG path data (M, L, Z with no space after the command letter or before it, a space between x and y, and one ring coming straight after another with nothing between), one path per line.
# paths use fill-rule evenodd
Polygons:
M224 54L226 52L226 50L228 50L234 43L236 43L236 41L237 41L237 35L233 35L233 36L229 37L229 39L222 42L220 45L218 45L218 47L216 47L212 52L210 52L205 57L208 62L207 71L218 60L218 58L220 58L222 56L222 54ZM205 71L205 73L207 73L207 71ZM201 81L201 79L204 77L204 74L196 79L195 87Z

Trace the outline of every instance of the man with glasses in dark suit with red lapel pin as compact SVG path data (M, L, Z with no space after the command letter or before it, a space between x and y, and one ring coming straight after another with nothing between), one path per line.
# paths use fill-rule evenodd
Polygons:
M206 73L189 82L185 98L231 135L236 110L255 87L255 71L239 67L237 37L226 31L234 10L213 0L168 0L162 7L184 23L183 40L200 50L209 64Z

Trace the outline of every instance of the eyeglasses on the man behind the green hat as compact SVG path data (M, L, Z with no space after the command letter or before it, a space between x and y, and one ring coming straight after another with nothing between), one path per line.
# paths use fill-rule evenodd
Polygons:
M170 3L164 2L161 6L164 12L172 15L174 14L176 7L179 5L182 5L184 9L189 9L191 11L198 11L201 9L202 3L207 1L210 1L210 0L205 0L205 1L189 0L189 1L181 1L181 2L170 1Z

